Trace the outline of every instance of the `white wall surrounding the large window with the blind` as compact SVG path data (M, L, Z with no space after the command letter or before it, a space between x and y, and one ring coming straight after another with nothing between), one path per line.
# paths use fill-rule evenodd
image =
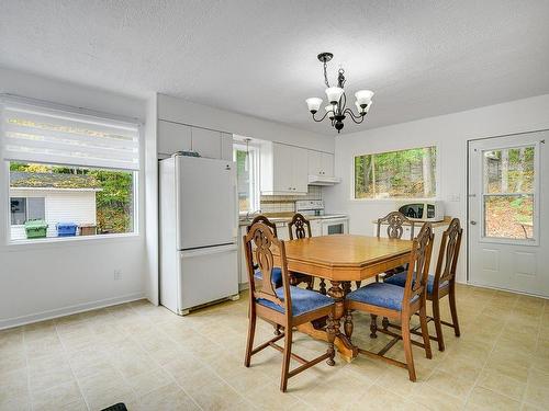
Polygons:
M5 69L0 69L0 93L145 119L143 100ZM8 169L0 165L0 328L143 297L143 185L139 236L7 246ZM121 279L114 281L114 270L122 270Z

